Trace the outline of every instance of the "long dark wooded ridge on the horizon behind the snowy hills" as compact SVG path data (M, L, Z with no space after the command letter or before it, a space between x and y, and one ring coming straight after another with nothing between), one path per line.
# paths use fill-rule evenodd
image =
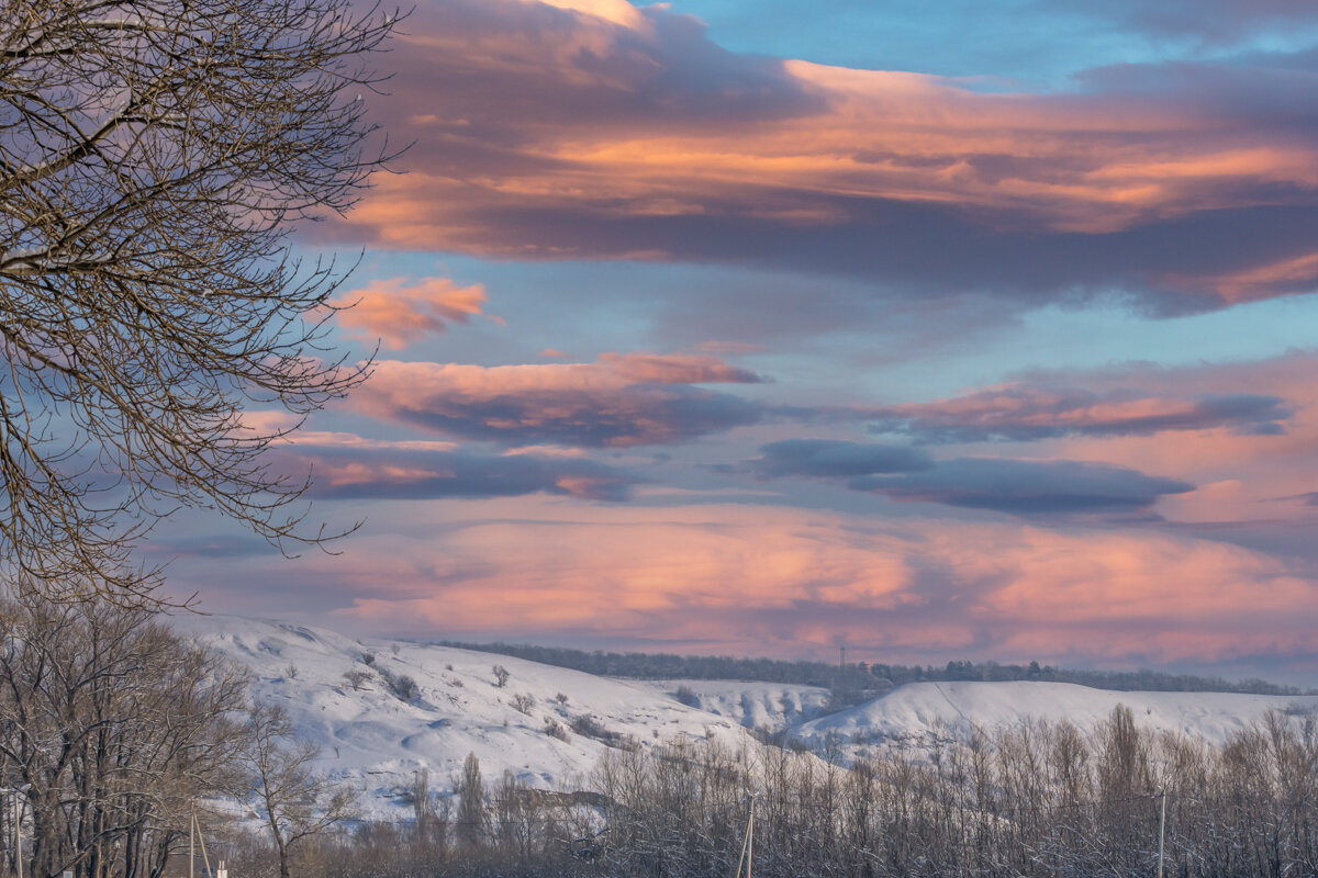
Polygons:
M837 665L730 656L672 656L668 653L605 653L525 644L465 644L438 641L442 646L514 656L542 665L569 667L600 677L631 679L737 679L792 683L846 690L887 690L903 683L940 682L1049 682L1075 683L1122 692L1239 692L1246 695L1301 695L1297 686L1278 686L1261 679L1228 681L1222 677L1164 674L1153 670L1104 671L1053 667L1052 665L999 665L998 662L948 662L933 665Z

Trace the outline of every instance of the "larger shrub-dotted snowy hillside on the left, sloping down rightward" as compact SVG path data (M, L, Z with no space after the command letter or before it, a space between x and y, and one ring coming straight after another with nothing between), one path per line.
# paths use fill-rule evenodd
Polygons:
M745 729L733 720L645 686L561 667L233 616L174 624L246 666L256 698L285 706L299 732L322 745L323 767L364 787L370 816L401 816L398 792L416 769L430 771L432 790L448 788L468 753L480 758L486 781L506 769L538 787L580 788L606 745L571 731L567 741L552 737L546 717L567 727L589 715L642 746L677 736L746 742ZM362 662L368 653L370 665ZM494 665L509 671L503 687L496 684ZM353 670L370 675L360 690L344 679ZM384 681L389 674L414 678L419 698L403 702L393 695ZM526 713L514 704L519 695L534 699Z

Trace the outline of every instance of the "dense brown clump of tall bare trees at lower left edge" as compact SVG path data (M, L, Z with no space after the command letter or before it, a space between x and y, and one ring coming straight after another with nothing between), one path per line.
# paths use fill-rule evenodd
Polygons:
M246 675L141 608L0 602L0 783L34 875L159 878L191 802L232 786Z

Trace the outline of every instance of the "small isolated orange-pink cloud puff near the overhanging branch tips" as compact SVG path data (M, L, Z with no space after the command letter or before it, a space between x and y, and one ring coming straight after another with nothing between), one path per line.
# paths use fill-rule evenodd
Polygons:
M460 287L448 278L391 278L373 280L332 304L344 308L337 323L355 330L349 337L368 342L378 338L385 348L402 350L444 332L449 324L465 324L478 316L485 288L478 283Z

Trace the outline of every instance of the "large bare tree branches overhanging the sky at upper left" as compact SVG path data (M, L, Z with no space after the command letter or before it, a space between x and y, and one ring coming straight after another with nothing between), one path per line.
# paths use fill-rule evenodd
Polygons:
M357 11L355 11L355 8ZM0 558L47 598L149 606L130 549L179 507L272 544L304 478L262 453L362 366L326 357L332 261L287 247L386 146L349 0L0 0ZM374 145L374 146L372 146ZM250 419L249 419L250 420Z

